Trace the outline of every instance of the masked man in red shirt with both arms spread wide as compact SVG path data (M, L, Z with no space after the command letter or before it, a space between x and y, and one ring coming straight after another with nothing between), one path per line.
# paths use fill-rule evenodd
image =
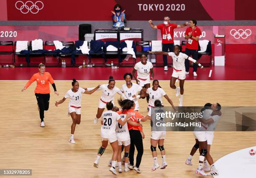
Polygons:
M151 28L159 29L161 30L161 36L162 36L162 51L164 52L173 52L174 50L174 41L173 41L173 30L174 28L182 28L186 26L188 23L184 23L181 25L177 25L175 23L170 23L170 18L168 16L164 17L164 23L159 25L154 25L152 23L152 20L148 21ZM164 70L168 70L168 64L167 64L167 56L163 55L164 60Z

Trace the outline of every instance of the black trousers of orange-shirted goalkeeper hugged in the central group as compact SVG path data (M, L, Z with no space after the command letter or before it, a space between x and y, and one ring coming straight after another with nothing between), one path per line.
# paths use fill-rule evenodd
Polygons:
M130 146L130 151L129 151L129 155L130 155L130 164L133 165L134 164L134 151L135 151L135 147L138 151L137 157L136 157L136 167L139 168L140 164L141 164L141 158L143 155L143 142L142 142L142 135L141 132L139 130L129 130L130 133L130 137L131 137L131 146Z

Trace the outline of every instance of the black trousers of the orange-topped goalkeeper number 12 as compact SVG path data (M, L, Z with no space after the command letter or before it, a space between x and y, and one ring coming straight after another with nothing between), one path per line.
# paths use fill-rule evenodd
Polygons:
M49 109L49 102L50 102L50 93L48 94L40 94L35 93L36 100L39 106L39 114L41 122L44 121L44 111Z

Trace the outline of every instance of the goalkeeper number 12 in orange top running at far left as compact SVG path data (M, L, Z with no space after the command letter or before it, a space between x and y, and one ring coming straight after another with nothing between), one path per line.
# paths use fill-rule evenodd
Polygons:
M49 102L50 102L49 82L54 88L54 94L59 96L59 93L56 90L56 86L54 84L53 78L51 77L51 74L49 72L45 72L45 65L43 63L40 63L38 65L38 68L39 68L39 72L35 73L31 77L31 79L28 81L28 83L25 85L25 87L21 91L26 90L31 85L31 83L36 81L35 95L36 95L39 115L41 119L40 126L45 127L44 111L49 109Z

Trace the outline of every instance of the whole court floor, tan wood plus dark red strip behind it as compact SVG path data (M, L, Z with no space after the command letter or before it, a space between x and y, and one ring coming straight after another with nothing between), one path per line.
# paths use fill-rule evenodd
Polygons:
M215 66L205 68L205 71L198 68L196 78L192 76L192 69L190 68L190 74L184 84L183 105L202 106L208 102L218 102L222 106L256 106L256 81L252 81L256 80L253 61L255 58L253 56L252 53L229 54L225 67ZM208 76L210 70L212 70L211 77ZM93 162L101 145L100 123L97 125L93 123L101 91L96 91L92 95L83 95L81 123L76 126L74 133L76 144L68 142L72 124L72 119L67 116L68 100L58 107L54 103L62 99L67 90L72 87L73 78L79 81L81 87L87 88L106 84L109 75L113 75L117 80L116 86L120 88L125 83L123 74L132 72L132 68L112 70L111 68L46 67L46 72L50 72L55 80L59 96L54 95L53 88L50 86L50 107L45 112L45 128L40 127L34 95L36 83L21 92L27 80L36 72L38 72L38 68L0 69L2 100L0 105L0 169L32 169L32 177L37 178L113 177L108 171L110 167L107 165L113 153L110 145L100 159L99 168L93 167ZM175 90L169 87L172 68L169 68L168 72L164 72L163 68L154 68L154 73L154 79L159 80L161 87L177 106L179 99L175 97ZM118 98L119 95L116 95L115 103L117 103ZM169 106L165 99L163 102L165 106ZM139 112L146 115L146 100L140 99L139 104ZM143 123L143 131L145 139L143 140L144 153L140 166L141 174L131 170L128 173L119 173L118 176L141 178L202 177L195 174L199 158L198 152L192 158L192 166L184 164L195 144L192 132L167 132L164 148L168 166L164 170L157 169L151 172L153 159L150 150L151 128L149 121ZM255 132L216 131L210 150L212 158L216 161L236 150L255 146L255 137ZM161 164L159 149L157 152L158 163Z

